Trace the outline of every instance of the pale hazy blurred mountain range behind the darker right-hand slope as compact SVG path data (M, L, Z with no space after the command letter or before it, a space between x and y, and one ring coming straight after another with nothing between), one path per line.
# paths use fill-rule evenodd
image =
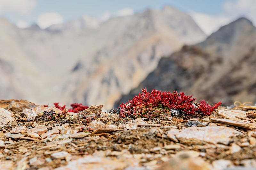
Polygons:
M206 38L189 15L170 6L106 22L83 16L44 30L36 24L20 29L4 18L0 25L2 99L106 109L162 57Z

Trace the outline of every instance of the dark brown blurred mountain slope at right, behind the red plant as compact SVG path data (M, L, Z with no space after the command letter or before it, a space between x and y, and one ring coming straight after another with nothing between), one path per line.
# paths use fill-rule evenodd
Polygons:
M148 91L184 91L197 100L224 105L256 102L256 28L246 18L240 18L205 41L183 46L178 52L162 58L157 68L116 106L131 100L142 89Z

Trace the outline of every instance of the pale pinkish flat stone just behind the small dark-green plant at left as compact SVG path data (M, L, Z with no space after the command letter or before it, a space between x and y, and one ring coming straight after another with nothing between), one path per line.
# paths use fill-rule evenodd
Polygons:
M44 107L38 106L31 109L23 109L24 115L27 117L28 120L33 120L38 114L43 113L44 111L56 111L56 113L62 113L60 109L56 107Z

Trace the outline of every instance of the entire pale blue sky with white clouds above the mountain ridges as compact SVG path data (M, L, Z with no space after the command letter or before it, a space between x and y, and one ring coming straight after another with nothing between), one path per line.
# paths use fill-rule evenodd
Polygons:
M256 0L0 0L0 16L14 24L30 25L47 12L57 13L65 22L82 15L101 18L108 13L113 17L125 8L136 13L165 5L190 14L208 34L239 16L256 21Z

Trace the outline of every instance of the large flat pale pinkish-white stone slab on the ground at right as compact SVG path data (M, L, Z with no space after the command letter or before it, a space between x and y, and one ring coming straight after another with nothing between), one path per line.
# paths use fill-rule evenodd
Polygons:
M181 143L199 144L205 143L228 145L230 137L241 135L242 133L226 126L206 126L188 127L175 134Z

